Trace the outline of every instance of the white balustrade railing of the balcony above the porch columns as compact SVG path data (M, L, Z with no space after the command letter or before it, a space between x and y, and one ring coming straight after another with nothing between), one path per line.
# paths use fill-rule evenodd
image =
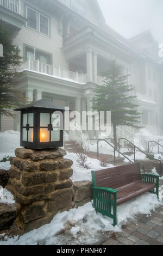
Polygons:
M61 78L76 83L87 83L87 74L78 74L70 70L61 69L59 66L52 66L39 60L28 59L27 62L21 64L21 69L39 72L40 74Z

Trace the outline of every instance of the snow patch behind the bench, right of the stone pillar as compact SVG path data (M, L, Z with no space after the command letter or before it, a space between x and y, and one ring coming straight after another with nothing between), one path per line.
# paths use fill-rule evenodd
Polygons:
M106 164L106 167L102 167L100 164L101 162L99 160L91 159L90 157L88 157L87 164L90 166L90 169L85 169L84 167L79 166L77 162L77 154L67 153L67 155L64 158L73 161L73 176L71 177L73 181L92 180L91 170L102 170L114 167L112 164Z

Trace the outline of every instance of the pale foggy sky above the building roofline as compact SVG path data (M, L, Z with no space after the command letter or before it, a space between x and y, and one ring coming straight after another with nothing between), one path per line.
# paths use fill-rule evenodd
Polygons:
M129 39L150 30L163 44L163 0L98 0L106 23Z

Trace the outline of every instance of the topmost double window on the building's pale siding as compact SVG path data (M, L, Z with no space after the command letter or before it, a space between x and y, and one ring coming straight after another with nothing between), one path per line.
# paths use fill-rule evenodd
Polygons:
M49 35L49 18L30 7L27 7L27 27L33 28L42 34Z

